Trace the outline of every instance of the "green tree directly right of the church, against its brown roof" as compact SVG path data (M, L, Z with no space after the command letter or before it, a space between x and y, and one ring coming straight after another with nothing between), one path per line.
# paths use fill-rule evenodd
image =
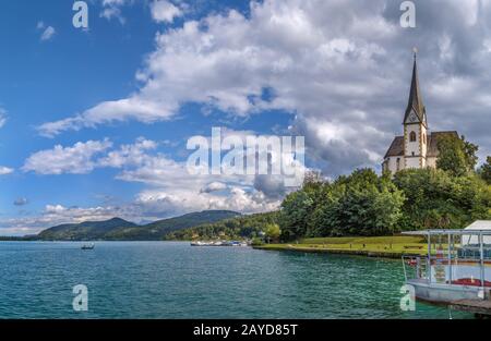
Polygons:
M436 145L439 148L436 168L454 176L463 176L475 169L478 146L467 142L464 136L442 135L439 136Z

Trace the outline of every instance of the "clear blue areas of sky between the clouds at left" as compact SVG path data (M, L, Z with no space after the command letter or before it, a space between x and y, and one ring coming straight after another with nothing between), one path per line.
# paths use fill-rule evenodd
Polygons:
M249 118L236 119L217 110L203 114L199 103L187 103L167 122L145 124L137 121L97 126L60 134L46 138L36 127L81 112L97 103L124 98L139 89L136 71L145 56L154 49L157 32L166 32L182 24L182 19L173 23L156 23L151 20L151 8L143 1L121 7L120 17L105 19L103 3L88 2L89 29L72 26L74 12L72 2L50 0L29 5L20 2L2 3L0 12L0 40L7 45L7 53L0 56L0 108L4 110L5 126L1 130L1 166L8 165L14 171L0 179L0 218L13 219L14 226L22 228L23 218L33 217L25 226L44 228L36 222L47 205L70 207L98 207L104 205L127 205L145 187L137 182L115 180L118 170L100 169L87 174L36 174L22 171L25 159L38 151L51 149L55 145L72 146L77 142L110 138L115 148L132 144L141 136L161 142L156 151L171 159L185 160L185 141L192 135L209 135L212 126L228 126L272 133L272 127L286 129L288 113L282 118L265 118L261 121ZM206 13L227 11L228 7L248 12L248 3L223 1L194 3L188 11L187 20ZM47 27L55 34L43 40ZM14 205L14 203L25 203ZM59 203L59 204L58 204ZM171 215L163 214L161 217ZM158 216L158 215L157 215ZM132 218L132 217L128 217ZM160 218L160 217L158 217ZM21 219L17 222L15 219ZM72 219L65 217L63 219ZM136 218L136 220L140 219ZM48 220L49 222L49 220ZM20 224L19 224L20 223ZM23 234L24 230L9 229L5 234ZM0 229L0 233L1 233Z

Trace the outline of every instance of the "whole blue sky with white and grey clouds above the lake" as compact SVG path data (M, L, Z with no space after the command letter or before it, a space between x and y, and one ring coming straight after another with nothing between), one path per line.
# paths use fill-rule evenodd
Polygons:
M402 133L412 49L430 130L491 154L491 1L2 1L0 235L121 217L276 209L275 176L196 176L191 136L306 138L326 178Z

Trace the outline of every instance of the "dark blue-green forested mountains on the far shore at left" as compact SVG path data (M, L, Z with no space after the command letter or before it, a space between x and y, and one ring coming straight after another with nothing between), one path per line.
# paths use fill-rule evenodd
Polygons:
M40 232L43 241L160 241L168 233L240 216L229 210L206 210L137 226L120 218L57 226Z

